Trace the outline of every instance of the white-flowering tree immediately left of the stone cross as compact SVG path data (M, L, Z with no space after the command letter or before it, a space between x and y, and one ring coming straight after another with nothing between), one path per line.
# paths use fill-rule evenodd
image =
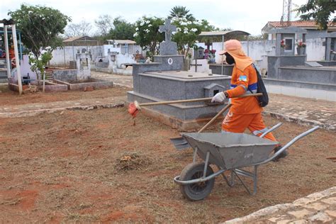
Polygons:
M143 50L150 52L149 56L156 55L159 52L159 43L164 40L164 33L159 33L159 26L164 24L162 18L143 16L135 22L135 33L133 35L135 42Z

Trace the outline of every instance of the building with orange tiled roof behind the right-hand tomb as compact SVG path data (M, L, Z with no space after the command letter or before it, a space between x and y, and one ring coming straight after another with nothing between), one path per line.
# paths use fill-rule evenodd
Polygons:
M336 24L330 23L327 26L327 30L319 30L315 21L291 21L289 22L289 26L295 26L298 28L303 28L307 30L306 39L320 38L325 35L325 33L331 33L336 31ZM288 27L287 22L281 23L280 21L271 21L267 22L267 24L262 28L262 34L269 34L269 40L275 39L275 34L270 34L269 30L272 28L285 28Z

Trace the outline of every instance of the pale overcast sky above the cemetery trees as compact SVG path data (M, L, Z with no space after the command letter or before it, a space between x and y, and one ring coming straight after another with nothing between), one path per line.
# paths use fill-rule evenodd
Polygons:
M301 6L307 0L292 0ZM165 18L174 6L186 6L197 19L206 19L218 28L243 30L261 34L267 21L280 21L283 0L0 0L0 19L8 18L21 4L49 6L72 18L73 23L85 20L92 23L99 15L121 16L130 23L141 16ZM295 6L293 6L295 8ZM296 20L292 13L292 20Z

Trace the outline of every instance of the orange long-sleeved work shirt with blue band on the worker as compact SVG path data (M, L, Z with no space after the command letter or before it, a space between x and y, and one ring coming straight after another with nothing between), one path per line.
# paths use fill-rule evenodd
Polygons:
M240 96L242 94L250 94L257 92L257 72L251 64L247 66L244 71L233 67L233 74L231 77L230 90L226 91L228 96ZM230 111L238 114L250 114L262 112L262 107L259 106L258 100L255 96L245 98L231 99Z

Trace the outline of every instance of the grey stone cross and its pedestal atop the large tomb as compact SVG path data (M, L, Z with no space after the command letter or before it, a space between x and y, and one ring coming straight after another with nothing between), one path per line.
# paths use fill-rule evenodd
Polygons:
M159 32L164 32L165 41L159 44L160 55L177 55L177 43L172 42L172 32L177 30L177 27L170 23L170 18L164 22L164 26L159 26Z

